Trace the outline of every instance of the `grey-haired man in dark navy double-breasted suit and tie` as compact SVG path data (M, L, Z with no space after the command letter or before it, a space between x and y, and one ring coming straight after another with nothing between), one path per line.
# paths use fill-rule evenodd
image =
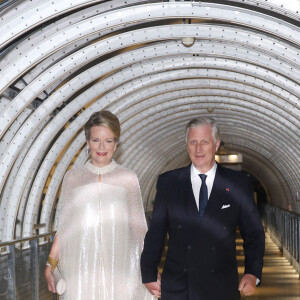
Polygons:
M215 162L220 139L211 118L186 127L192 164L159 176L141 257L142 280L162 300L235 300L249 296L261 280L265 247L251 182L245 173ZM245 252L238 282L236 230ZM162 249L168 251L161 278Z

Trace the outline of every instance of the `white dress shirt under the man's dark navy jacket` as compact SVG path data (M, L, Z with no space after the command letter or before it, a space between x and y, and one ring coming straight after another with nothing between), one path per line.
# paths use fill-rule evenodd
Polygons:
M205 175L207 175L205 183L207 185L208 200L209 200L209 196L210 196L210 193L212 190L212 186L214 184L216 170L217 170L217 164L215 163L209 171L204 173ZM202 180L201 180L199 174L203 174L203 173L200 173L196 169L194 164L192 164L191 165L191 182L192 182L193 193L194 193L194 197L196 200L196 205L198 207L198 210L199 210L199 193L200 193L200 188L201 188L201 184L202 184Z

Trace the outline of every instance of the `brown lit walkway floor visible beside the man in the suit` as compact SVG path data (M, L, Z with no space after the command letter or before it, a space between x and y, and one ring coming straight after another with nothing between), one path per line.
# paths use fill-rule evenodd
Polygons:
M243 253L242 240L237 239L237 253ZM243 264L243 256L238 256L239 265ZM239 267L242 274L244 268ZM288 260L282 256L279 248L266 233L266 250L264 257L264 268L262 285L259 286L254 295L242 297L248 300L300 300L299 274L290 265Z

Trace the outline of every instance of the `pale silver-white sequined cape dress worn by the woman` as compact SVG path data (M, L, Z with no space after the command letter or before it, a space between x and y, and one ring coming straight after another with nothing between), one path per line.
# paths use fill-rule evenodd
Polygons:
M101 182L98 175L101 175ZM58 225L64 300L153 300L141 283L147 230L137 176L115 161L65 175Z

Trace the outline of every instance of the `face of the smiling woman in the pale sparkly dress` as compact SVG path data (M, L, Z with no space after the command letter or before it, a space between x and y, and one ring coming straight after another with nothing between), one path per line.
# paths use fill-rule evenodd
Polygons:
M93 126L87 144L91 151L92 164L102 168L108 165L116 149L114 133L104 126Z

